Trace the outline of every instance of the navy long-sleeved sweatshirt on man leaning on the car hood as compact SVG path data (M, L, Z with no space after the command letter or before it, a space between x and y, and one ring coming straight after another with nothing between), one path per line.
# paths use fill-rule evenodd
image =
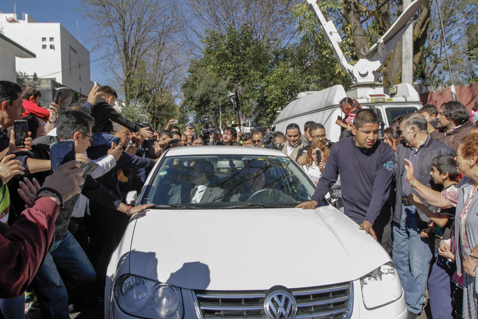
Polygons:
M340 189L345 214L361 224L374 223L389 199L395 153L385 142L372 148L359 148L354 136L335 143L327 158L324 174L319 179L312 200L319 202L340 174Z

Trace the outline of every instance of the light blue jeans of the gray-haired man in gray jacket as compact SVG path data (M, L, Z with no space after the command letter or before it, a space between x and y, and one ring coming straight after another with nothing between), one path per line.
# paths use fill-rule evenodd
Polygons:
M392 260L402 282L408 310L420 313L434 241L420 236L415 210L415 206L402 205L400 224L393 223Z

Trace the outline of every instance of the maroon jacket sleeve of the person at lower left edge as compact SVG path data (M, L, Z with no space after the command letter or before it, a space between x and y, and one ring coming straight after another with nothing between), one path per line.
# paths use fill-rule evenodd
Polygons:
M0 298L20 296L31 283L53 240L56 202L38 198L0 235Z

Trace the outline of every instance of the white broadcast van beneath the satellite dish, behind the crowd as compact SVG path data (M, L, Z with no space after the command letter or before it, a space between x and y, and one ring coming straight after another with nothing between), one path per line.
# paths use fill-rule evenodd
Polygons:
M388 94L384 91L388 90ZM290 102L272 124L272 132L285 134L285 128L290 123L296 123L304 128L306 121L321 123L326 128L327 139L337 142L340 136L340 126L335 122L337 116L345 117L338 103L349 97L357 99L363 108L371 108L377 112L383 123L383 129L393 123L393 119L402 114L411 113L422 107L418 92L407 83L397 84L384 90L383 87L357 87L345 91L341 85L335 85L321 91L301 92L298 99Z

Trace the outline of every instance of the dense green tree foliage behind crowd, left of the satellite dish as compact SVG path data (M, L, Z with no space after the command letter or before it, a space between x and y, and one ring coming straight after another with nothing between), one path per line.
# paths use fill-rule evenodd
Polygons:
M249 25L229 27L226 33L208 32L204 58L191 62L182 87L182 110L217 116L218 108L208 107L226 100L223 122L237 121L227 101L228 91L237 85L244 116L260 108L258 124L271 125L277 111L297 93L348 85L348 77L318 31L314 16L304 4L295 6L293 15L300 35L286 45L279 39L260 39Z

